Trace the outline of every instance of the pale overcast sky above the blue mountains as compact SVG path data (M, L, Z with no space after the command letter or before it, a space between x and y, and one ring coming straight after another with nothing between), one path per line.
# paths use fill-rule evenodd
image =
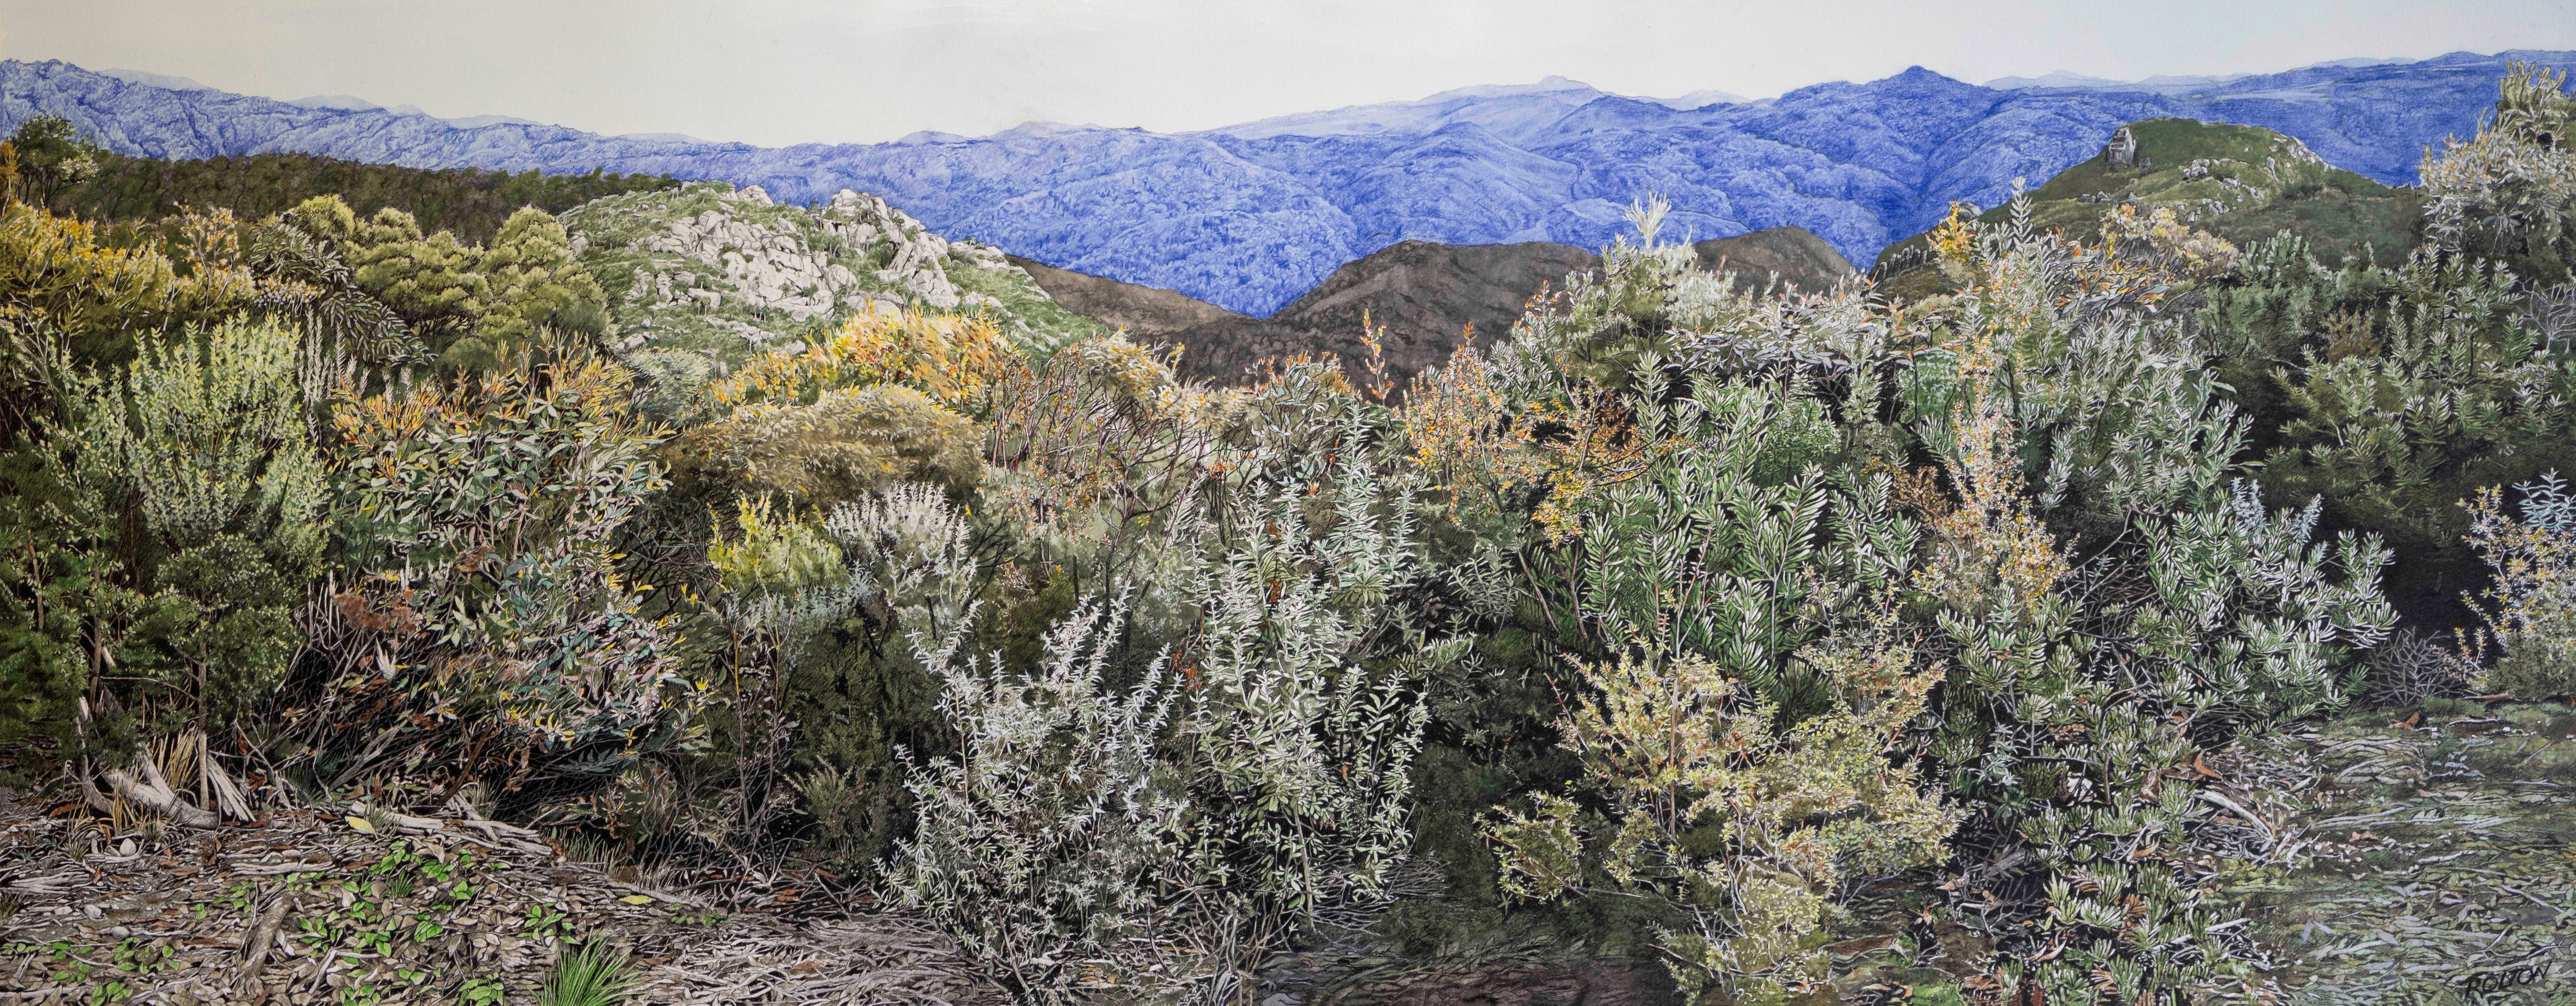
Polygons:
M2136 80L2460 49L2576 49L2576 3L0 0L5 59L757 144L1180 132L1546 75L1762 98L1909 64Z

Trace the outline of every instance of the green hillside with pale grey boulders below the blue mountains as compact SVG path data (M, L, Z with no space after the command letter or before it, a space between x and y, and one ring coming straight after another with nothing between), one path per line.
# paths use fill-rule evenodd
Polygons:
M992 312L1036 346L1103 330L1054 304L999 248L945 240L848 188L806 209L760 186L690 183L577 206L564 227L608 289L616 351L629 356L696 353L724 371L801 351L871 302Z

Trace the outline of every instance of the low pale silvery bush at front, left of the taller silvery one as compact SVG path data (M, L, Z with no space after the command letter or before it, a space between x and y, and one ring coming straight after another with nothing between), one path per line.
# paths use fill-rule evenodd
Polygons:
M920 650L961 745L909 769L920 823L886 874L1023 1001L1141 972L1170 929L1188 807L1154 776L1177 696L1159 660L1123 696L1103 684L1123 619L1123 601L1082 606L1025 671L958 660L961 632Z

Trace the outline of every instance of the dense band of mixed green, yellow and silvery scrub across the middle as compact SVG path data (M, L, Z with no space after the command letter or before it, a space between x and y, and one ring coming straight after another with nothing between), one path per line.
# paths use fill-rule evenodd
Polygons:
M1401 408L904 310L639 377L541 209L118 237L33 181L0 751L793 869L1025 1001L1510 911L1783 1003L1891 882L1981 947L1917 998L2264 998L2213 874L2285 851L2205 756L2576 691L2571 108L2517 70L2385 258L2022 201L1927 237L1937 294L1762 299L1649 199Z

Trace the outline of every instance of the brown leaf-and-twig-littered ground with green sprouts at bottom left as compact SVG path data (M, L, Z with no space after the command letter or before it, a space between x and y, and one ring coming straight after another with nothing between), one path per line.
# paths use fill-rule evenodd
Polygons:
M0 792L0 1003L526 1003L587 939L626 949L652 1003L1007 1001L920 921L719 913L526 833L361 823L100 836Z

